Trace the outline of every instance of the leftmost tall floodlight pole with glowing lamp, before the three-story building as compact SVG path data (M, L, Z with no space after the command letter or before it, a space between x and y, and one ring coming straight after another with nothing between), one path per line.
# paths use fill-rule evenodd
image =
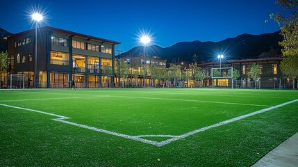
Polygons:
M34 65L34 88L38 88L38 22L44 17L40 13L33 13L32 19L35 21L35 65Z

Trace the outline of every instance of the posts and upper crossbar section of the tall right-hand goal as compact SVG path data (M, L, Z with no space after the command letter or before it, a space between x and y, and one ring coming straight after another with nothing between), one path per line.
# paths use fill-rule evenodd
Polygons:
M231 88L233 88L233 67L216 67L211 68L211 78L214 79L231 79Z

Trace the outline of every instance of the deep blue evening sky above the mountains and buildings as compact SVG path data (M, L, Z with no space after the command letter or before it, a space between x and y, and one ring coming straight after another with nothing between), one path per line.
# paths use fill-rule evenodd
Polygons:
M30 14L38 6L44 26L119 41L116 49L123 51L140 45L141 31L151 33L151 45L160 47L274 32L279 25L265 20L269 13L282 13L275 0L3 0L0 27L11 33L33 29Z

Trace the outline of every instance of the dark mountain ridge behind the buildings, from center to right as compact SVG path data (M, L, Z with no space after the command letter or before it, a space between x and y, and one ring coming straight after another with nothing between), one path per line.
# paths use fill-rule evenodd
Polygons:
M279 42L283 40L280 31L260 35L242 34L219 42L178 42L170 47L152 45L146 47L146 56L156 56L167 63L206 63L217 60L223 54L226 60L268 58L281 56ZM144 47L134 47L121 56L142 56ZM195 56L194 56L195 55Z

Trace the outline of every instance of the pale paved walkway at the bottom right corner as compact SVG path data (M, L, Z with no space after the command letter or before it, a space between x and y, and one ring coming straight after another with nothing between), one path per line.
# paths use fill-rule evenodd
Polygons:
M258 160L251 167L298 166L298 132Z

